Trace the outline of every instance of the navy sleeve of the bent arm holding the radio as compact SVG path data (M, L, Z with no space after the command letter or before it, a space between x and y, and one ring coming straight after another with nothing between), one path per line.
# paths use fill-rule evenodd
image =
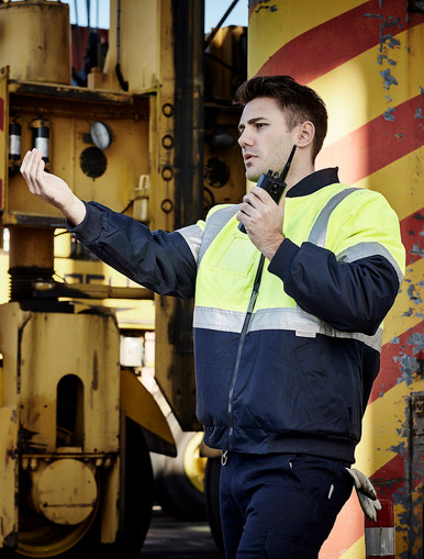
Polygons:
M383 256L343 262L331 250L287 238L268 270L303 311L344 332L373 335L399 290L397 271Z

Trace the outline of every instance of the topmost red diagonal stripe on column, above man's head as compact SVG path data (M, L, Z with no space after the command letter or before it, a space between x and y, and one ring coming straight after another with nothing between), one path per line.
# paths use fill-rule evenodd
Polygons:
M372 46L392 45L393 35L420 23L420 18L408 14L405 2L369 0L281 46L257 74L289 74L308 83Z

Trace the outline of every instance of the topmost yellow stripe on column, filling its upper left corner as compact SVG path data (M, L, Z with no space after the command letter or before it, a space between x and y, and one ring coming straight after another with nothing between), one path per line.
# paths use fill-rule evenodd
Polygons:
M259 4L249 18L248 33L255 41L248 42L248 76L254 76L267 58L283 44L309 30L337 18L365 3L364 0L301 0L288 2L274 0L276 11ZM260 47L258 47L260 45Z

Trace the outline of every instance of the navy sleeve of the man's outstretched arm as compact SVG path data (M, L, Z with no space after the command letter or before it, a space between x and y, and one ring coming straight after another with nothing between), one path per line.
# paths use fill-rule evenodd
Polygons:
M102 261L161 295L190 299L197 265L179 233L150 232L137 221L97 202L86 203L82 223L68 230Z

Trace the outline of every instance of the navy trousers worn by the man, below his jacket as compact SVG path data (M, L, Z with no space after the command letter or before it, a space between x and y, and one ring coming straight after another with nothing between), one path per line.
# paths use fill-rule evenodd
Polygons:
M316 559L353 489L348 463L228 452L221 468L226 559Z

